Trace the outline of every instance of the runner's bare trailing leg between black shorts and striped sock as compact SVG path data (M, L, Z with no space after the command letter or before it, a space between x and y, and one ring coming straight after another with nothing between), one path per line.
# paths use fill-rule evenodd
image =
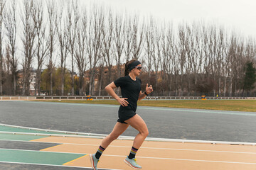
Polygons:
M100 146L102 146L103 148L106 149L110 145L110 143L113 140L116 140L117 137L119 137L119 135L122 135L122 133L125 130L127 130L128 127L129 127L129 124L117 122L116 125L114 125L114 128L113 128L112 132L110 133L110 135L107 135L107 137L105 137L102 140L102 143L100 144Z

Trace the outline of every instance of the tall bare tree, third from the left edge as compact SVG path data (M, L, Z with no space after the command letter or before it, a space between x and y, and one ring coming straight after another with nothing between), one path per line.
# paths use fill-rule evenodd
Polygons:
M36 27L33 22L33 1L23 0L23 15L21 21L23 24L23 85L22 95L29 95L30 79L31 79L31 64L35 55L34 41L36 39Z

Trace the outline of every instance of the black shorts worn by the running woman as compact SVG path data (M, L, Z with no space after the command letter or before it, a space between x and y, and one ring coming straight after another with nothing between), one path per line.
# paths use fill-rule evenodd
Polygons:
M125 123L124 122L125 120L128 120L129 118L134 117L134 115L136 115L136 113L132 110L130 106L127 106L127 107L120 106L118 111L119 119L117 120L117 122Z

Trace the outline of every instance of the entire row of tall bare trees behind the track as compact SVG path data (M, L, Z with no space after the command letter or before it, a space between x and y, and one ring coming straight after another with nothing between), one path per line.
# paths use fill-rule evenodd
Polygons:
M104 95L104 86L122 76L122 64L137 58L144 67L142 80L154 86L154 95L231 96L242 91L245 64L255 63L256 55L255 39L216 23L172 26L76 0L0 0L0 28L0 95L7 89L29 95L32 69L40 94L43 68L54 95L55 67L61 72L62 96L67 68L71 95L75 72L78 94Z

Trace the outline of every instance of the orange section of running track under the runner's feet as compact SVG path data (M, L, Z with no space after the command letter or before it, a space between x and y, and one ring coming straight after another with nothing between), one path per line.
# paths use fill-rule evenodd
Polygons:
M62 143L44 151L91 154L97 151L102 139L45 137L33 141ZM115 140L103 152L98 168L132 169L124 164L131 147L131 140ZM136 157L146 170L256 170L255 146L145 141ZM80 157L64 165L91 166L89 157Z

